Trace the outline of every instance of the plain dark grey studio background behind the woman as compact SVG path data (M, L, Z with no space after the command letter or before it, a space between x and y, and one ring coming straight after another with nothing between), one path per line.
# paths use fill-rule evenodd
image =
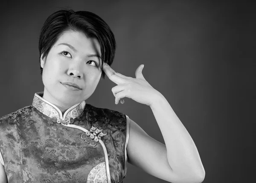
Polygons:
M0 116L31 105L34 93L44 90L38 38L46 18L63 7L91 11L116 36L113 69L134 76L144 64L146 80L189 131L206 171L204 183L253 182L256 19L253 3L241 2L5 1L0 12ZM131 99L115 105L113 86L108 78L100 81L87 103L127 114L163 142L150 108ZM129 165L124 183L129 182L165 181Z

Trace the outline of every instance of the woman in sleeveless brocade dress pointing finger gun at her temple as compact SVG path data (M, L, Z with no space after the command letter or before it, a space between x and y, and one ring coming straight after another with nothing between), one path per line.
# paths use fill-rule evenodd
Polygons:
M140 65L136 78L110 67L116 49L109 26L90 12L50 15L39 39L44 92L0 119L0 181L122 182L127 162L172 183L198 183L205 172L197 148ZM115 102L148 105L166 145L117 111L86 104L105 74Z

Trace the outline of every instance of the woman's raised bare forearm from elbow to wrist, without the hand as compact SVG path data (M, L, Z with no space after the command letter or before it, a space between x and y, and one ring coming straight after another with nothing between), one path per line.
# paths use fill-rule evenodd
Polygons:
M157 93L150 105L166 144L167 160L179 176L204 178L204 167L189 132L164 96Z

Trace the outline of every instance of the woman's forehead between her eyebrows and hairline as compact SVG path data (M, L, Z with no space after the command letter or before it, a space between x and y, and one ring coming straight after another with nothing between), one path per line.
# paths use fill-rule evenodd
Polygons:
M101 55L100 44L96 38L88 38L84 33L78 31L65 31L55 43L67 43L72 45L78 52Z

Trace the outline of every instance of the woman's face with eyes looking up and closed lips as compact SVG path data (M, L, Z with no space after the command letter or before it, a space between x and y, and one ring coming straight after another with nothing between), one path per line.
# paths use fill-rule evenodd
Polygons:
M71 30L64 32L47 58L41 59L44 98L63 106L88 99L101 78L100 57L100 45L95 38Z

